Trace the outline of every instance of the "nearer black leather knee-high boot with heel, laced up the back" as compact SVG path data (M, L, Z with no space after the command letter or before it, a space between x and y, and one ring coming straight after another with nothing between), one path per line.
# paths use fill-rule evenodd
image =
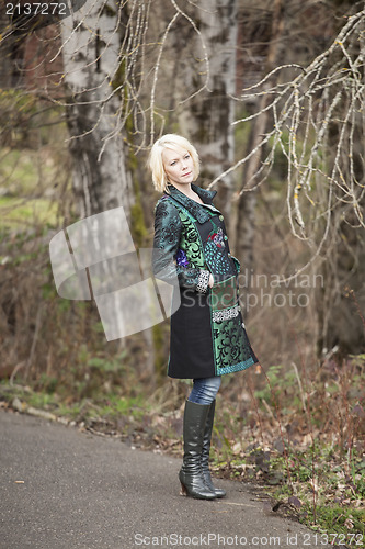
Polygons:
M203 437L209 407L209 404L186 401L184 411L184 458L179 479L182 493L198 500L217 497L205 484L202 471Z

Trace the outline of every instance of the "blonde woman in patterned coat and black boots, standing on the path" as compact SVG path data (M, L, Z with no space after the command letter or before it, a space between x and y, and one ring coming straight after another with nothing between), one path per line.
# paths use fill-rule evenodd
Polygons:
M216 191L196 184L199 159L184 137L167 134L152 146L149 167L162 193L155 209L153 272L178 274L181 305L171 316L171 378L192 379L185 403L182 493L224 497L208 468L216 394L221 376L258 363L238 295L239 261L231 255ZM162 272L162 276L161 276Z

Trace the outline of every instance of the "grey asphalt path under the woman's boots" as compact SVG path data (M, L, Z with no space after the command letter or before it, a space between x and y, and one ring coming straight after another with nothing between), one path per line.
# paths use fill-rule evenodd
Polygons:
M55 422L0 411L0 548L326 547L250 486L179 495L181 461Z

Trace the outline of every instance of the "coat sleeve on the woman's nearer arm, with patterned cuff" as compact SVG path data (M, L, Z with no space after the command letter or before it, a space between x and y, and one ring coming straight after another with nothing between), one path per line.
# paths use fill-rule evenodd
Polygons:
M176 262L181 231L182 223L176 206L169 200L158 202L155 210L153 274L169 283L173 283L178 276L180 287L205 293L210 272Z

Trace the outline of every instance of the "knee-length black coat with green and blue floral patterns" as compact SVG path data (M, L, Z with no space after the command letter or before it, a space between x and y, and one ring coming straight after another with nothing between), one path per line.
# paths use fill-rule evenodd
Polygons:
M170 184L155 209L153 272L166 281L176 273L179 279L168 374L181 379L221 376L258 362L239 304L240 265L230 254L224 216L212 203L216 191L192 189L204 204Z

